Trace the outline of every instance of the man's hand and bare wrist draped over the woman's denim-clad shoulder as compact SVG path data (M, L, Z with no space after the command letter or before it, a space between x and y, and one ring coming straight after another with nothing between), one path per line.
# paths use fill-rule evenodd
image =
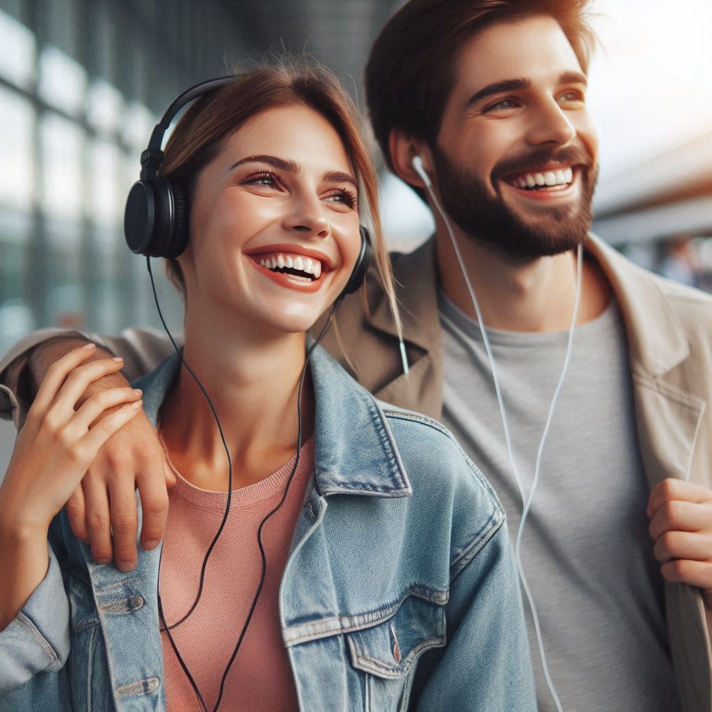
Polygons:
M82 343L87 342L66 338L36 347L30 360L35 382L40 383L53 362ZM112 354L98 348L94 358L108 356ZM92 394L127 385L120 373L100 379L86 389L80 404ZM137 562L136 488L143 515L141 545L154 549L166 525L167 488L175 483L176 476L166 462L156 431L140 412L106 441L66 503L72 531L78 539L88 541L98 562L108 563L113 558L120 570L131 570Z

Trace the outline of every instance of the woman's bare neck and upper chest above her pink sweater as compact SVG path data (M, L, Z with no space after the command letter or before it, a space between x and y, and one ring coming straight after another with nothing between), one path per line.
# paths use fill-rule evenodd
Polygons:
M234 489L268 477L297 449L297 392L305 359L305 335L246 335L187 320L184 358L201 380L220 418L233 467ZM302 443L313 434L310 375L303 387ZM181 368L160 417L172 464L197 487L228 488L228 464L210 406Z

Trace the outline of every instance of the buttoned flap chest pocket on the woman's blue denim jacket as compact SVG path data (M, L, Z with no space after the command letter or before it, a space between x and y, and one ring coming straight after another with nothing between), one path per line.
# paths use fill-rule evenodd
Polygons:
M409 596L390 617L346 639L352 666L366 673L367 712L405 710L419 657L446 644L444 606Z

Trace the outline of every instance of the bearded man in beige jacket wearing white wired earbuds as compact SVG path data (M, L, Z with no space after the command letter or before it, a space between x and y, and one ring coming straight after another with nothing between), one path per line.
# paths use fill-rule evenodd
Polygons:
M389 167L425 196L419 156L449 217L493 347L525 496L564 365L575 248L585 245L573 355L521 549L552 680L532 625L540 708L557 708L556 695L564 710L711 712L712 300L587 235L597 140L583 4L411 0L372 49L370 115ZM443 419L516 533L522 498L491 367L444 215L427 199L434 239L394 256L409 374L375 283L368 313L358 299L342 305L343 352L333 335L326 345L345 352L378 397ZM129 339L104 343L127 357L131 375L169 352L152 335ZM29 369L17 358L6 382L31 391L23 379L36 381L75 343L36 350ZM158 540L164 518L155 437L141 422L131 428L72 502L75 530L105 560L112 522L118 562L135 560L135 480L142 543Z

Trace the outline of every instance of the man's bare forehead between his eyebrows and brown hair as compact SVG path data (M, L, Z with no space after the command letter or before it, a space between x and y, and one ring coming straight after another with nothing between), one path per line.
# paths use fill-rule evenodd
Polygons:
M470 38L456 57L454 90L476 92L511 79L555 80L581 73L571 43L548 15L495 23Z

